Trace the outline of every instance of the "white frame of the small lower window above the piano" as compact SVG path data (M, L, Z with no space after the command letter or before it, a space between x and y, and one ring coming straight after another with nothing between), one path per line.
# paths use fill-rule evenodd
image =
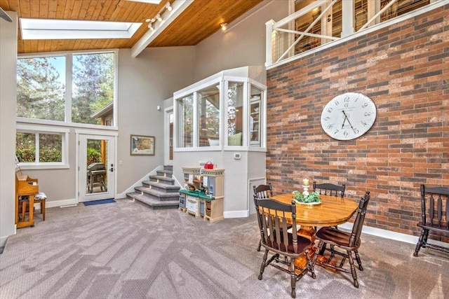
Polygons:
M60 134L61 135L61 162L20 162L21 169L68 169L69 168L69 128L66 127L45 127L41 125L18 124L15 133L36 134ZM36 142L36 153L39 153L39 142Z

